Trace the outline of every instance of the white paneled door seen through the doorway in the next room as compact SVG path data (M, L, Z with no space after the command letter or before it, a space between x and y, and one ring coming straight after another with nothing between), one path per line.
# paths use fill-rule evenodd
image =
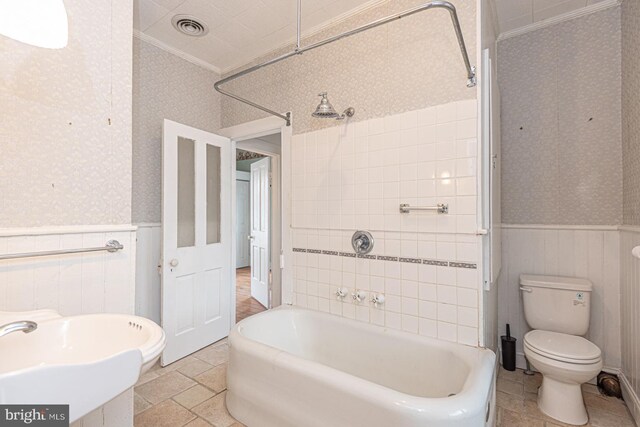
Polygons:
M251 296L269 308L271 159L251 164Z

